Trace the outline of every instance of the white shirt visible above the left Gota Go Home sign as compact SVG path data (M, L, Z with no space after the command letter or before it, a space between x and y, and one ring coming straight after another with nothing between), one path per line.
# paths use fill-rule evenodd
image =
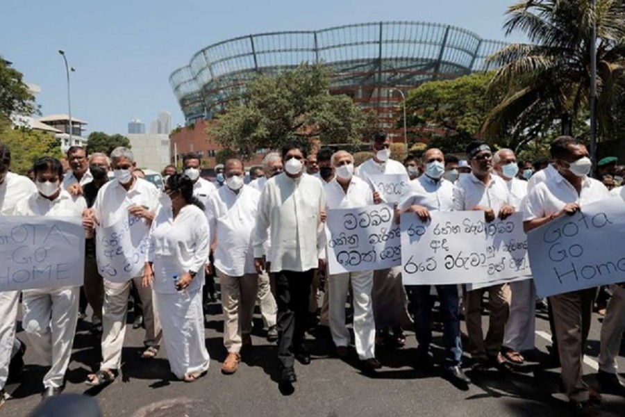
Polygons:
M17 202L15 215L81 218L86 208L87 202L82 196L70 195L65 190L60 190L58 196L53 200L35 192L30 197Z

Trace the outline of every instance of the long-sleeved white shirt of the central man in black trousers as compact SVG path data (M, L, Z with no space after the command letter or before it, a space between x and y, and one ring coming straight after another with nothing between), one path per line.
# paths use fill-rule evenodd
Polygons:
M263 244L271 227L271 272L304 272L317 268L325 243L319 213L326 201L321 182L308 175L292 179L279 174L269 179L258 202L253 234L254 257L265 254Z

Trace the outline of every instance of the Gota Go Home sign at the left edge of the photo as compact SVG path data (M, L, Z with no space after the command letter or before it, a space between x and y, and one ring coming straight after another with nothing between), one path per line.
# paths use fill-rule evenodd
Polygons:
M0 216L0 291L81 286L85 231L80 219Z

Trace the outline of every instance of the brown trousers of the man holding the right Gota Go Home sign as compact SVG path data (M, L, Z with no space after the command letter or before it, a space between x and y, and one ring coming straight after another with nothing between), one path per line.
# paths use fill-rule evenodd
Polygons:
M596 296L597 288L590 288L549 297L558 338L562 382L569 399L576 402L588 400L588 387L583 382L583 359Z

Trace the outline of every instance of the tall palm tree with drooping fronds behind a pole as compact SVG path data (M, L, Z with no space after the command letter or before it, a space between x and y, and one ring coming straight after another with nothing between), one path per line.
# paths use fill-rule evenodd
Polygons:
M597 0L595 13L590 0L526 0L506 15L506 34L522 31L531 43L510 44L490 56L500 65L490 89L504 98L487 115L483 133L512 126L517 135L531 136L559 120L561 134L572 134L574 121L589 108L596 18L597 121L599 133L607 134L625 96L625 2Z

